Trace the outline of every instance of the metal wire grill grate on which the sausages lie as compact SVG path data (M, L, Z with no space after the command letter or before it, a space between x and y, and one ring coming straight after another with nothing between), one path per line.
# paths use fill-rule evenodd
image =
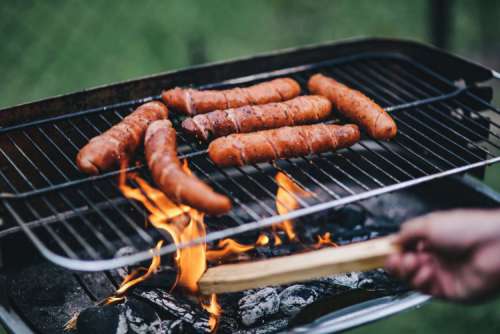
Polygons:
M189 158L193 172L233 200L227 215L206 217L208 241L500 161L500 124L495 121L500 111L476 88L394 54L362 54L200 88L250 85L283 75L305 87L316 72L363 91L390 111L399 127L397 137L382 142L363 134L360 143L335 153L221 169L208 159L205 144L179 131L179 154ZM141 204L121 195L117 171L86 177L74 163L90 138L155 98L0 129L0 199L52 261L77 270L120 267L148 259L148 250L165 237L146 227L148 214ZM177 129L180 121L173 117ZM142 165L130 171L151 181ZM278 172L312 193L296 197L300 208L285 215L275 208ZM114 257L123 246L136 252ZM174 250L167 244L161 252Z

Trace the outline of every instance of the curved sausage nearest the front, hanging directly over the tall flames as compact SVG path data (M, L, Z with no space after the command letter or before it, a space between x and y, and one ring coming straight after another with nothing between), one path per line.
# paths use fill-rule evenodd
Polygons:
M175 129L169 120L151 123L144 140L146 162L153 180L172 201L218 215L231 210L231 201L196 176L182 170Z

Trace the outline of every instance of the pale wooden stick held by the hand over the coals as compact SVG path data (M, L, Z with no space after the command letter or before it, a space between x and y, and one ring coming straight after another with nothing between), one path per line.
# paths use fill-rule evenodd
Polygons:
M397 251L393 237L383 237L269 260L212 267L198 285L201 293L209 295L367 271L382 267L387 256Z

